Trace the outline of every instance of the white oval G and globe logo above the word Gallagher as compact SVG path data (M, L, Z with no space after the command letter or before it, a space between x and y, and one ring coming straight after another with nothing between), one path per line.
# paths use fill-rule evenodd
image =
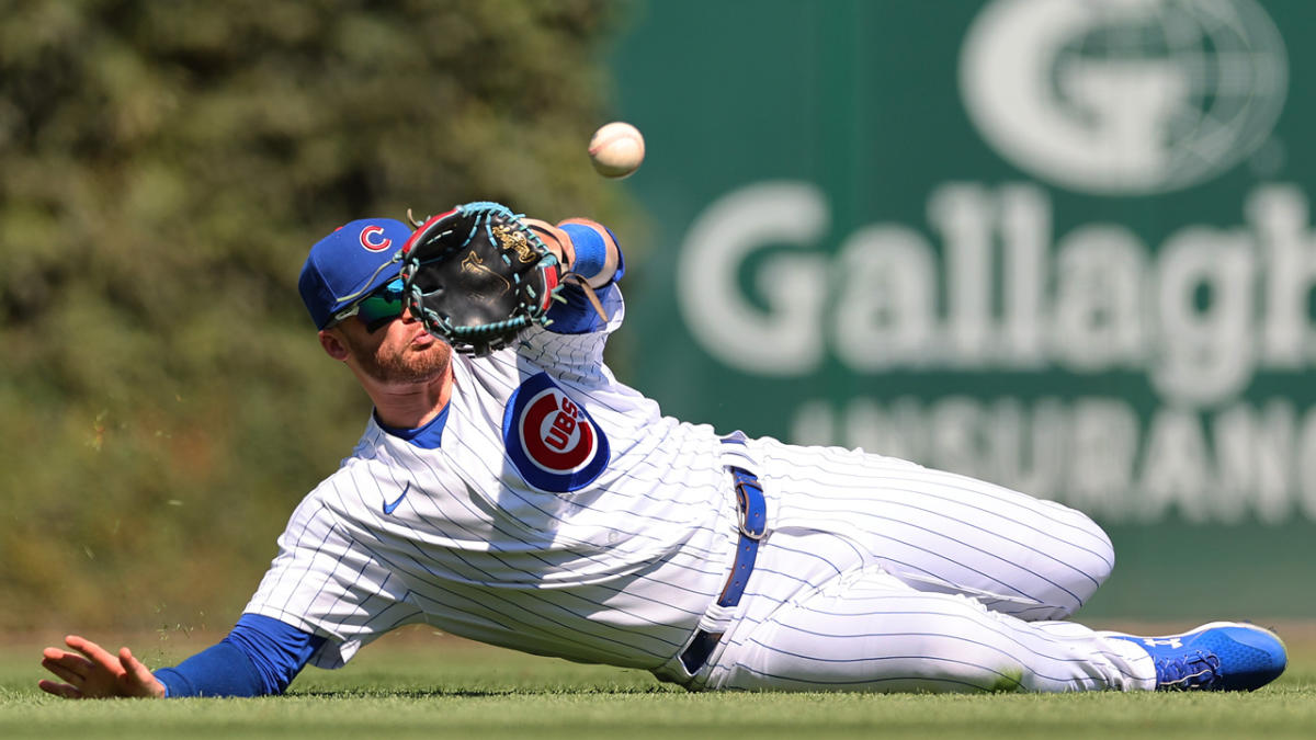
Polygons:
M1075 191L1169 192L1263 145L1288 61L1254 0L995 0L959 59L974 125Z

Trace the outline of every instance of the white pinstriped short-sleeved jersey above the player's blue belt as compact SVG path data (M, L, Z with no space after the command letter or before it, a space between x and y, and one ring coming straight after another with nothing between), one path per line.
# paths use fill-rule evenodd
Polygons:
M604 299L613 316L604 332L537 329L520 350L454 354L437 449L371 420L293 512L245 611L330 636L312 657L322 668L416 621L538 654L666 661L721 589L733 533L720 523L732 500L713 431L662 416L603 366L624 313L616 290ZM607 465L574 491L530 485L565 487L520 470L507 450L513 394L542 384L541 373L608 445Z

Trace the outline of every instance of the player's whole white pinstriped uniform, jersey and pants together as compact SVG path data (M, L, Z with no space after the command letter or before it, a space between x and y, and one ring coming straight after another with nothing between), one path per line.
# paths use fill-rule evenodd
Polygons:
M717 612L737 539L719 437L616 382L603 348L624 307L615 287L601 298L603 332L455 356L440 449L371 420L293 512L246 611L330 637L322 668L424 621L692 689L1150 687L1134 645L1054 621L1113 565L1086 516L862 452L750 440L770 535L740 606ZM508 399L541 371L611 445L580 490L536 489L504 450ZM676 656L709 619L726 633L691 677Z

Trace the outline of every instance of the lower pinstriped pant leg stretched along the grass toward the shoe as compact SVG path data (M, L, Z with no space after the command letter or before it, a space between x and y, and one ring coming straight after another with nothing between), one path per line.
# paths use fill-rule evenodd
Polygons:
M782 583L769 583L774 579ZM765 578L762 586L790 589L784 581ZM1028 623L965 595L917 591L876 566L807 589L776 608L763 608L769 603L754 602L703 686L807 691L1154 687L1148 656L1115 640L1074 623Z

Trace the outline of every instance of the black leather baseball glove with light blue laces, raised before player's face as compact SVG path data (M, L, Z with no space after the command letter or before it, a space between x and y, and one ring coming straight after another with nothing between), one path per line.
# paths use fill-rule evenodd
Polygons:
M476 357L549 323L559 273L544 240L497 203L433 216L403 245L407 308L430 334Z

